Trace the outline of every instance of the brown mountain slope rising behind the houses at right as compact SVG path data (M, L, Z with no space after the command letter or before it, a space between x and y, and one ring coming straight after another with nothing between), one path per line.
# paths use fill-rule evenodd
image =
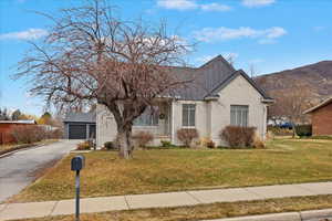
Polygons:
M288 93L301 83L310 88L313 103L332 96L332 61L322 61L255 78L268 94Z

